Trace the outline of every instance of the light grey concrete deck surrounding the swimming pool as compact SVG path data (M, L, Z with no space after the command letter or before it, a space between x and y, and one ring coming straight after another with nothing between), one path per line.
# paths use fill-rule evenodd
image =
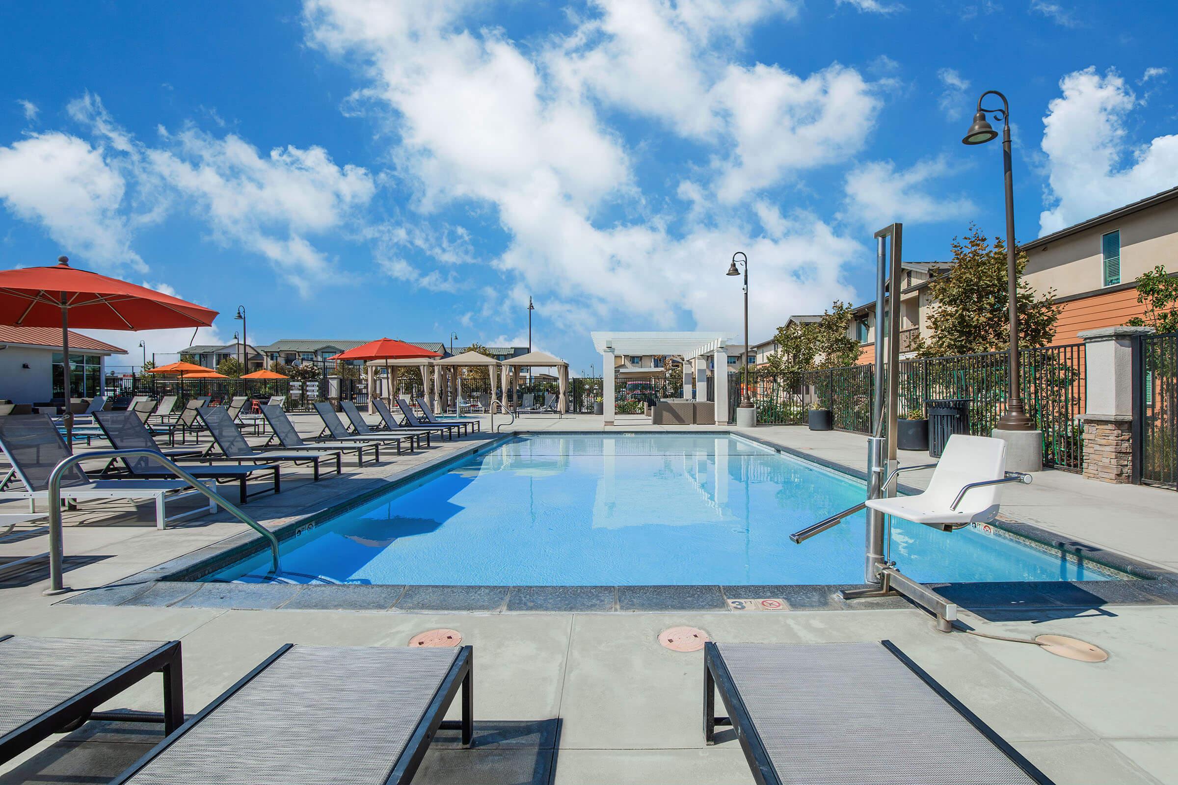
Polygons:
M585 431L600 430L600 423L590 417L536 417L519 425L529 431ZM638 423L620 423L614 430L629 427L666 430ZM757 428L753 435L851 467L862 463L865 452L862 437L845 433L781 427ZM287 479L284 472L287 490L272 499L251 500L246 511L267 525L280 523L337 498L342 488L375 487L476 440L444 443L429 457L363 471L345 467L344 478L319 484L298 472ZM920 459L912 458L906 463ZM920 485L919 478L913 485ZM1045 472L1034 485L1007 495L1004 512L1127 557L1178 565L1178 534L1164 526L1173 520L1178 497L1156 488L1091 487L1098 485ZM66 552L73 568L66 577L75 590L121 580L243 530L224 515L163 532L147 523L92 514L74 514L67 523ZM16 546L44 551L44 537L31 537L4 553L14 553ZM1178 679L1172 677L1178 607L1172 605L1118 605L1079 616L1060 608L1035 613L1033 623L967 619L1019 637L1071 634L1111 654L1106 663L1086 665L1032 646L938 633L924 612L902 606L609 614L132 607L64 603L42 597L44 585L31 574L18 585L0 587L2 632L178 638L184 641L190 712L283 643L405 645L424 630L458 630L477 654L475 711L481 743L472 751L435 745L415 781L752 781L737 741L723 736L714 747L703 745L700 652L675 653L656 643L661 630L688 624L730 641L889 638L1055 781L1178 783L1178 716L1172 710L1178 700ZM158 701L158 687L151 683L124 693L112 706L153 710ZM55 737L15 761L0 764L0 772L6 772L0 783L104 781L133 761L151 738L143 729L119 727Z

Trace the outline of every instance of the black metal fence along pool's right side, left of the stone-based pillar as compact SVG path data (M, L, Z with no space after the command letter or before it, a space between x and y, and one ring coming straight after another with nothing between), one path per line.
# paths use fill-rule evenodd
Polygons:
M1044 433L1044 463L1079 471L1084 439L1079 421L1084 413L1084 344L1024 350L1019 358L1024 406ZM929 400L967 399L971 432L988 435L1006 411L1008 377L1006 352L901 360L900 417L924 419ZM732 419L736 417L741 379L736 374L729 379ZM757 423L802 425L809 410L825 408L830 411L835 428L855 433L871 431L874 391L871 364L809 371L801 379L765 372L749 379Z

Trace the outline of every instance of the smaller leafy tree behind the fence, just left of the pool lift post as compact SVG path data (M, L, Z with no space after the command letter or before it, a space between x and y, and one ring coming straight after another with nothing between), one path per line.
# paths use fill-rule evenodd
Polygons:
M830 304L818 321L790 321L777 327L773 340L777 351L769 354L769 371L785 377L794 387L807 371L842 368L859 359L859 341L851 337L851 306L841 300Z

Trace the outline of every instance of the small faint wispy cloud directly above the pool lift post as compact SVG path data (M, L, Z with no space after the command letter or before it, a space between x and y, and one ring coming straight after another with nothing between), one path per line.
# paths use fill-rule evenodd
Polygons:
M856 167L846 179L843 218L869 228L893 221L932 224L966 218L977 212L968 197L933 195L929 185L954 173L944 155L896 169L892 161Z

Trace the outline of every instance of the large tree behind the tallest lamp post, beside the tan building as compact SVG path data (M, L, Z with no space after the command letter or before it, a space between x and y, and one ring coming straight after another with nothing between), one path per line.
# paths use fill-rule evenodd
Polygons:
M915 351L920 357L949 357L975 352L1000 352L1010 346L1007 313L1006 244L993 244L975 225L964 238L953 238L953 268L948 275L928 285L934 302L928 314L932 335L920 335ZM1027 257L1019 250L1018 273ZM1046 346L1055 337L1055 320L1063 311L1055 304L1054 290L1038 294L1019 279L1019 345L1024 348Z

